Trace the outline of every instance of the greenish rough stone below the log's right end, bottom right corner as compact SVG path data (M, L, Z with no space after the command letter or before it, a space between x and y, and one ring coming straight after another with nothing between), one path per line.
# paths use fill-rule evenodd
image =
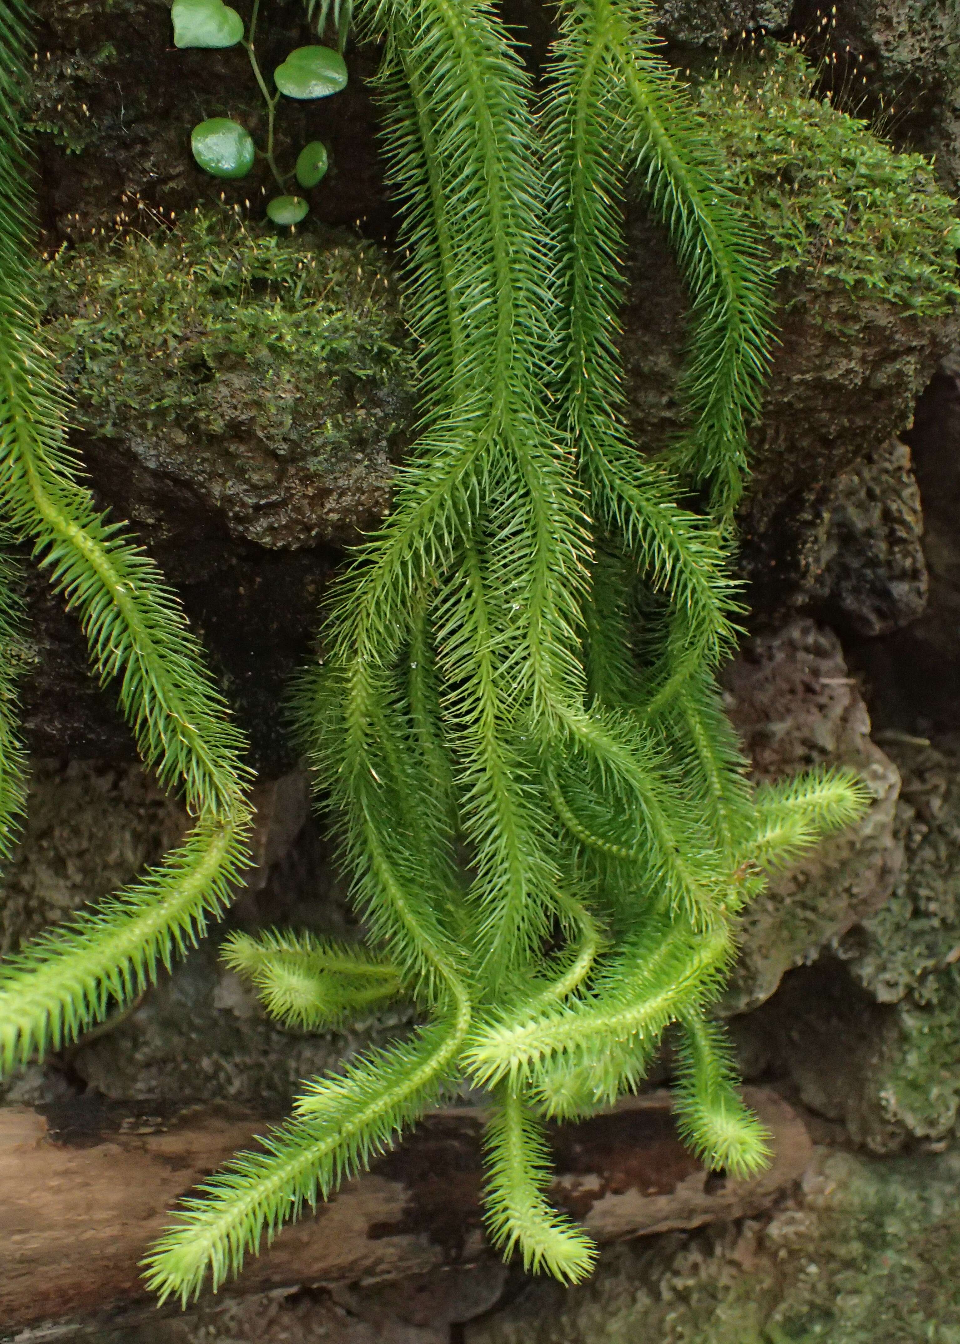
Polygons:
M593 1278L528 1281L467 1344L957 1344L960 1154L820 1149L769 1220L604 1251Z

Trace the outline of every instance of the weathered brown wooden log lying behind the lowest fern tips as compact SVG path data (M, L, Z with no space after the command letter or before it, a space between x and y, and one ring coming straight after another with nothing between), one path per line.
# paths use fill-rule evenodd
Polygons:
M773 1133L757 1179L707 1173L676 1137L670 1095L653 1093L551 1132L551 1198L601 1242L761 1211L801 1175L811 1144L780 1097L745 1094ZM216 1109L144 1116L98 1097L42 1110L0 1109L0 1332L143 1304L137 1265L177 1196L269 1124ZM471 1263L484 1250L480 1129L471 1109L428 1117L251 1257L239 1290Z

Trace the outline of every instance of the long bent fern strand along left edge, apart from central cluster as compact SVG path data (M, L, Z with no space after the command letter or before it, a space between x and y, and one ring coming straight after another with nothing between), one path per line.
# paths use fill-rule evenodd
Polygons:
M159 964L203 933L225 909L246 862L247 775L242 739L203 667L199 645L153 563L116 523L94 511L77 481L63 433L65 401L38 341L32 233L19 134L27 46L19 0L0 15L0 504L66 605L75 610L102 681L116 679L120 706L144 761L183 790L196 818L161 868L98 910L61 925L0 966L0 1070L63 1044L151 982ZM0 575L9 579L7 567ZM13 727L8 616L0 602L0 823L9 844L22 808Z

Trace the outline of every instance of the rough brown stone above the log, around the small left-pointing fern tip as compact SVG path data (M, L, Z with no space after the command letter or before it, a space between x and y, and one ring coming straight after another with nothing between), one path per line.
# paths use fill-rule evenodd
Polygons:
M247 875L227 923L163 977L116 1030L71 1050L75 1075L104 1095L141 1102L230 1099L284 1113L304 1078L336 1068L371 1043L394 1039L414 1020L413 1009L398 1004L343 1031L284 1031L261 1011L247 985L219 964L219 942L229 927L309 927L347 939L359 931L329 843L307 818L305 778L289 775L261 786L258 794L266 835L258 828L254 845L262 862Z

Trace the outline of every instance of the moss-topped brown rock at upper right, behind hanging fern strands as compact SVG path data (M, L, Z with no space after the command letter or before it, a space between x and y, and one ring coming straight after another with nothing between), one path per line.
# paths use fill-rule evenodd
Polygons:
M925 160L812 94L809 69L783 48L699 91L725 183L756 219L777 309L739 519L749 601L765 614L805 599L811 534L836 480L910 425L957 335L953 203ZM686 297L640 207L628 277L628 417L637 442L657 449L680 427ZM830 610L830 594L816 597Z

